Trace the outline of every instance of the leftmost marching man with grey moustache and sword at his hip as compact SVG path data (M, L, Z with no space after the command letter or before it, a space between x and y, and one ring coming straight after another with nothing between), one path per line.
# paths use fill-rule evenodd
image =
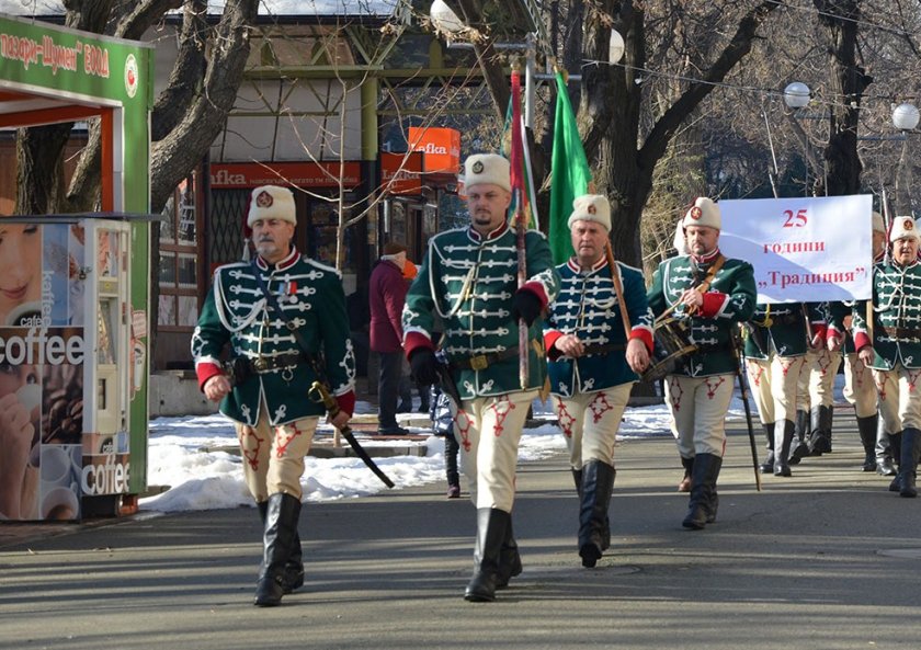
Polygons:
M315 380L327 381L340 408L331 423L345 425L355 404L355 363L339 272L292 246L291 190L253 190L247 224L258 256L215 271L192 335L192 355L205 396L220 400L220 412L237 429L243 477L264 523L254 604L274 606L304 584L300 475L325 413L307 392ZM232 384L220 362L228 343ZM316 368L326 376L318 377Z

